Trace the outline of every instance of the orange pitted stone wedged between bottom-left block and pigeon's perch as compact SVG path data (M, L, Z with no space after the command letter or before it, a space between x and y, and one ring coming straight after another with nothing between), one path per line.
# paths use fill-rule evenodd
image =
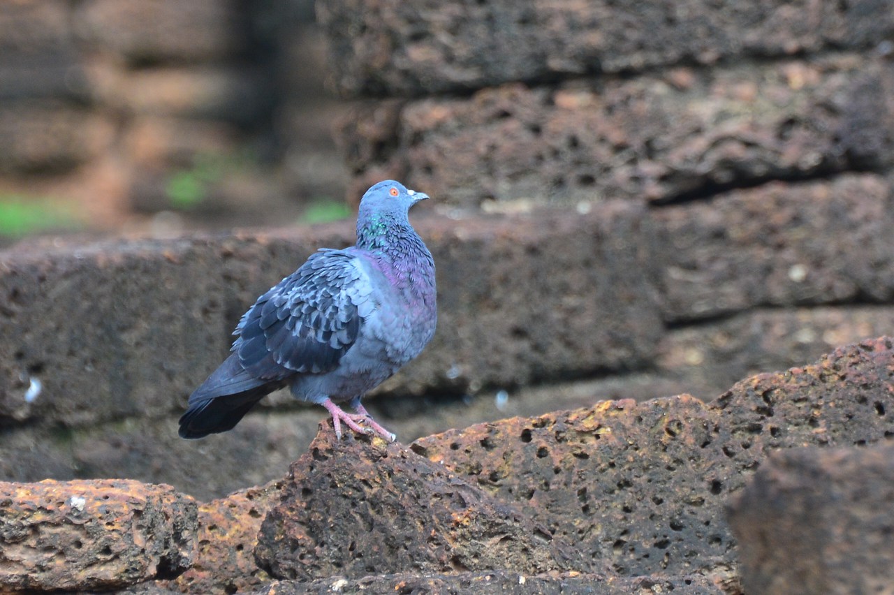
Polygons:
M226 595L249 591L270 577L257 567L257 532L279 503L283 481L234 492L198 507L198 549L190 569L159 586L187 593Z

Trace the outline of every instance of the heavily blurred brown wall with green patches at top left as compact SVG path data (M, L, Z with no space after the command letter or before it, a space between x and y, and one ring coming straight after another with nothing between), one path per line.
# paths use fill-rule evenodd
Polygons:
M314 21L311 0L4 2L0 219L164 232L347 214Z

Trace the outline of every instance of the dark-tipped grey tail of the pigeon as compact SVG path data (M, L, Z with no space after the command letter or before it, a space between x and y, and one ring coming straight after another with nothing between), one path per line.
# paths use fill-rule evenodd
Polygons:
M178 433L194 439L232 430L257 401L282 386L281 381L252 378L232 355L192 393Z

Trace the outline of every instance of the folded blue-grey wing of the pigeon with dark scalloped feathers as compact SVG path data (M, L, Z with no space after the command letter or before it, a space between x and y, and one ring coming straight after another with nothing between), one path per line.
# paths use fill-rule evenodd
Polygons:
M372 283L355 258L323 249L246 312L232 351L251 376L279 381L333 370L375 309Z

